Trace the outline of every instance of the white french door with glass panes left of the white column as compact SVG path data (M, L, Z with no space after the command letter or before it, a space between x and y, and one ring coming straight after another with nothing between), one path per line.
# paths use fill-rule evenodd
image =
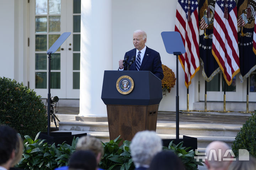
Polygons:
M48 56L46 51L63 32L71 35L52 54L51 95L78 99L80 88L80 0L30 1L30 88L47 98Z

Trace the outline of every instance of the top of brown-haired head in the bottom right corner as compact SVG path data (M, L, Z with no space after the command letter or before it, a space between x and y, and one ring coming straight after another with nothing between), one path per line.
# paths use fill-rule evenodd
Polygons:
M249 160L238 160L233 161L230 166L229 170L253 170L256 169L256 159L250 157Z

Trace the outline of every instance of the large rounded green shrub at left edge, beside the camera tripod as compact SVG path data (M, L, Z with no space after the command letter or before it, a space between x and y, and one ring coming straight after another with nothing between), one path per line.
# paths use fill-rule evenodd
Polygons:
M14 79L0 77L0 124L21 134L35 137L47 131L46 109L40 96Z

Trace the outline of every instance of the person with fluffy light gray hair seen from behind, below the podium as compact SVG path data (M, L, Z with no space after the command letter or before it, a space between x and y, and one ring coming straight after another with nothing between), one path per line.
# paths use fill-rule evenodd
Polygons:
M130 144L135 170L148 169L153 157L161 150L162 140L154 131L137 132Z

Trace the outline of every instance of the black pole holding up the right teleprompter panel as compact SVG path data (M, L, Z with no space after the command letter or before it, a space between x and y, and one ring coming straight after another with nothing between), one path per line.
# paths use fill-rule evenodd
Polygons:
M179 139L178 55L176 55L176 139Z

